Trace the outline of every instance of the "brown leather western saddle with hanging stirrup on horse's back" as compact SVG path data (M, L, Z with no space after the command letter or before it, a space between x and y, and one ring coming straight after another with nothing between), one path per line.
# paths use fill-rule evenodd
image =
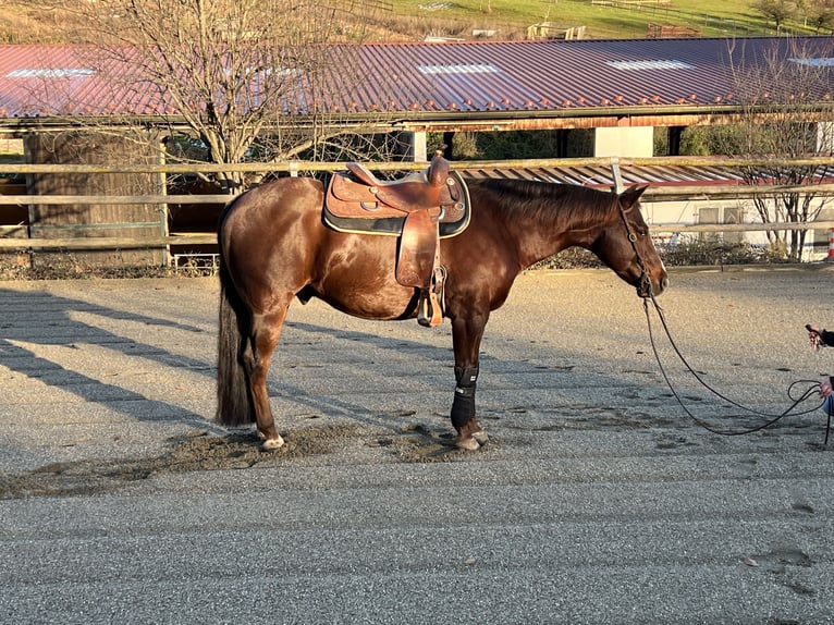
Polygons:
M340 232L398 236L396 281L419 290L417 321L434 327L443 320L440 240L469 224L469 192L450 171L440 150L428 169L394 181L380 181L359 163L330 179L324 223Z

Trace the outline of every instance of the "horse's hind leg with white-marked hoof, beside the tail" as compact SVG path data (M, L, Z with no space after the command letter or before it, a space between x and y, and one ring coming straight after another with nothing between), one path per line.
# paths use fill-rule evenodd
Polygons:
M269 403L267 373L272 352L275 351L278 340L281 338L286 310L287 306L280 306L267 314L253 315L250 335L245 342L242 354L243 366L249 380L255 421L258 433L263 438L263 448L268 450L278 449L284 444L284 439L275 429L275 420Z

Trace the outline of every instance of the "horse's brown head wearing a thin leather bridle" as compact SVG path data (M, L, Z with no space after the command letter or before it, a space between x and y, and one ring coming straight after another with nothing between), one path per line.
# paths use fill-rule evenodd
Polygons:
M640 297L660 295L669 285L666 268L640 213L640 196L648 186L634 184L616 196L616 216L590 247L620 278L635 286Z

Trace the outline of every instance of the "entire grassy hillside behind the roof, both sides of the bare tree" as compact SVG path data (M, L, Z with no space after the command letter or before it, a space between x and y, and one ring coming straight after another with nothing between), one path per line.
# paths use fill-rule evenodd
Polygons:
M524 39L528 27L584 27L587 38L643 38L650 24L674 25L706 37L773 35L773 24L752 9L753 0L335 0L346 23L363 7L361 23L377 40L419 40L427 36ZM664 3L665 2L665 3ZM0 42L83 42L68 3L11 0L0 7ZM349 32L349 28L347 29ZM782 32L810 33L802 16Z

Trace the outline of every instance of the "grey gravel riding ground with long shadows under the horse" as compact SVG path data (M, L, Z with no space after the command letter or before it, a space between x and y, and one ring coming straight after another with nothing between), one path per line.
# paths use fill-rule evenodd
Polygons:
M834 371L834 267L673 270L692 417L738 431ZM0 282L2 623L832 623L812 399L716 436L634 291L532 272L452 446L451 330L295 305L282 450L211 420L211 279ZM832 352L834 354L834 352ZM810 387L799 383L796 392Z

